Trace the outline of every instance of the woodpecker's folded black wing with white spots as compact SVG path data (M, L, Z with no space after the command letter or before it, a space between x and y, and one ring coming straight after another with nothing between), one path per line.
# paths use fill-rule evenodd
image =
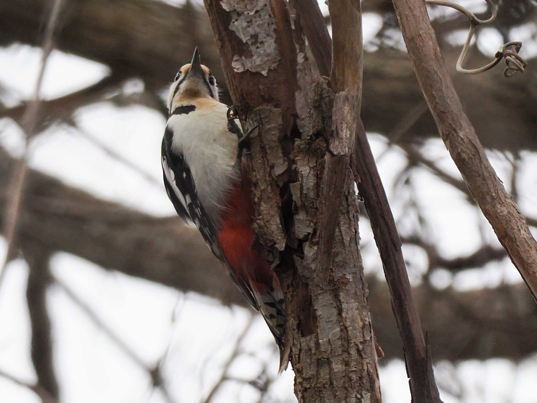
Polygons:
M229 275L235 284L237 284L244 297L246 297L255 310L259 311L259 306L253 297L252 290L248 284L235 276L235 273L231 270L224 257L218 242L217 226L209 218L204 206L200 203L196 195L194 178L192 177L190 168L186 164L183 153L177 154L171 149L172 138L173 132L166 126L164 138L162 139L162 170L164 186L168 197L175 207L177 214L179 214L179 217L192 221L198 227L205 242L211 248L213 254L226 267Z

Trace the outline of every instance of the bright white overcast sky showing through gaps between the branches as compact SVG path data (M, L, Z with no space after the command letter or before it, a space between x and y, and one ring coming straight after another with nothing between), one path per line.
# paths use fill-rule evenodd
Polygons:
M325 12L326 6L323 3L321 6ZM378 17L365 16L366 41L373 37L379 24ZM528 32L528 29L518 30L517 34L524 37ZM487 40L482 35L478 46L492 54L498 48L500 38L495 31L490 30L489 33ZM453 40L460 39L454 37ZM528 54L537 53L535 45L526 49ZM39 63L40 50L37 48L13 45L0 49L0 83L9 90L0 94L2 102L12 106L31 98ZM41 96L51 99L65 95L97 82L107 73L107 67L98 63L54 51L47 65ZM143 84L133 80L125 84L124 91L136 92L142 87ZM142 106L120 108L101 102L78 110L75 119L83 133L64 126L53 126L32 141L32 168L100 198L124 203L140 211L157 216L175 214L161 184L159 153L165 125L161 114ZM98 139L154 180L142 177L139 172L113 159L95 142L88 140L88 136ZM18 156L24 147L23 139L21 129L13 121L0 119L0 146ZM370 134L369 139L375 155L386 149L386 140L382 136ZM422 150L443 169L457 175L439 139L427 140ZM488 154L498 175L509 188L509 163L497 152ZM523 212L537 217L537 154L525 152L522 157L519 205ZM403 206L408 201L408 195L393 192L395 177L405 161L404 154L393 147L379 162L396 218L401 218ZM413 171L411 180L418 189L416 201L420 210L431 223L432 241L438 245L442 255L449 258L471 253L481 244L481 233L488 242L498 244L488 223L460 193L425 170ZM413 224L415 217L405 217L401 220L400 230L404 232ZM382 276L366 220L361 221L360 234L366 271L379 272ZM419 281L416 274L424 271L426 264L423 254L415 248L404 248L403 251L414 274L411 277ZM0 257L3 254L5 241L0 238ZM91 306L147 366L154 365L167 351L164 376L176 402L198 402L208 393L220 376L221 365L233 348L234 340L251 315L242 308L221 307L217 301L206 297L185 295L145 280L106 272L66 253L54 256L52 271ZM34 382L25 301L27 272L24 261L10 263L0 287L0 369ZM440 287L453 285L456 289L468 290L494 287L502 281L520 282L520 276L506 259L455 277L439 272L434 281ZM165 401L159 393L150 392L147 373L118 349L106 332L96 326L59 287L50 287L47 300L53 321L55 367L62 402ZM260 318L254 320L242 349L250 354L233 365L233 376L251 377L260 371L262 362L266 360L272 361L275 376L277 358L273 339ZM449 365L439 364L446 378L442 380L449 383L450 373L458 376L468 402L537 402L537 356L529 357L520 364L489 359L485 362L463 362L453 368ZM401 361L383 365L380 376L384 402L410 400L408 380ZM240 396L238 400L237 394ZM294 401L292 371L288 370L278 379L271 394L280 400ZM257 396L255 388L231 383L222 388L215 401L253 402L257 401ZM442 398L446 403L458 401L446 393ZM33 403L39 399L32 392L0 377L0 401Z

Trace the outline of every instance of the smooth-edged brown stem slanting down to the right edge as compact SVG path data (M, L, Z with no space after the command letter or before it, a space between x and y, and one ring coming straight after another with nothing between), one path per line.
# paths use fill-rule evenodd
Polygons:
M490 165L457 96L422 0L394 0L403 38L449 154L498 240L537 300L537 242Z

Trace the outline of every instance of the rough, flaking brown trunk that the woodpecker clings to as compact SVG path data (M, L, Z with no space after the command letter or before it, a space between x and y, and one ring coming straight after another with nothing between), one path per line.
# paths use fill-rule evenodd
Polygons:
M295 394L301 402L380 402L348 169L356 89L333 100L286 2L205 5L245 129L259 124L248 159L256 232L286 294ZM337 183L329 179L333 156L347 161Z

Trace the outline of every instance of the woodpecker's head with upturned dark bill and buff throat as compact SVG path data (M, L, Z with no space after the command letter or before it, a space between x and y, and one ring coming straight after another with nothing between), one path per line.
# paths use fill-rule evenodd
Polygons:
M175 81L171 84L168 96L168 111L176 106L188 104L196 98L214 98L218 100L218 86L207 66L200 62L200 53L195 49L192 62L179 69Z

